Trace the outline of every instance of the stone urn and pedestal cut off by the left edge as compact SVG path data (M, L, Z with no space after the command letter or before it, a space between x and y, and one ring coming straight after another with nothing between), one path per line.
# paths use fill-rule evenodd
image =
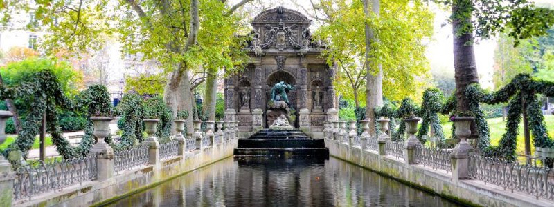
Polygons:
M6 141L6 121L12 116L11 112L0 110L0 144ZM113 174L114 170L111 171ZM3 155L0 155L0 189L2 189L0 206L12 206L14 179L15 173L12 171L12 165Z

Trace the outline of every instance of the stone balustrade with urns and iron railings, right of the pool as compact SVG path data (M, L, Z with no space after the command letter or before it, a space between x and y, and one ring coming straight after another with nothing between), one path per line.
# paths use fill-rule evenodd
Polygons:
M355 134L355 122L350 121L350 128L346 135L349 139L346 140L343 139L347 133L346 121L325 121L323 132L325 132L325 145L330 148L331 155L361 166L373 166L377 171L383 168L382 163L389 165L396 163L400 165L386 166L384 170L404 165L404 170L414 169L414 173L421 172L424 175L439 173L438 177L447 178L449 184L456 187L458 185L467 186L467 180L476 180L479 182L470 184L478 186L482 184L483 188L490 188L485 187L488 185L494 189L503 189L504 193L512 193L512 195L507 194L507 197L515 198L517 202L527 202L525 199L519 199L521 194L534 197L537 206L544 206L545 200L546 204L548 204L548 200L552 202L554 199L554 169L476 155L472 146L467 142L471 135L472 120L473 117L452 119L456 128L454 133L460 139L460 142L452 149L423 146L415 137L420 121L418 117L404 119L406 123L406 139L404 141L391 141L391 137L386 133L389 120L384 118L376 120L380 126L380 133L377 137L367 135L366 139L362 138L367 131L366 126L369 120L360 121L361 128L364 129L361 135ZM373 163L374 161L375 163ZM393 172L386 171L386 173ZM402 176L395 176L394 173L391 174L392 177L404 179ZM400 175L405 173L407 172L404 171ZM554 203L551 204L554 205Z

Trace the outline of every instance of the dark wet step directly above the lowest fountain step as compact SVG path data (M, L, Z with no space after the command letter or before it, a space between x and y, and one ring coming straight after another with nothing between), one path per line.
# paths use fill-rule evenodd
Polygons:
M237 148L325 148L323 139L239 139Z

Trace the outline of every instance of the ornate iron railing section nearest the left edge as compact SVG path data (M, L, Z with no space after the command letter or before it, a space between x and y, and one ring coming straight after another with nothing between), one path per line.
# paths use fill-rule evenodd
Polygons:
M39 164L21 166L15 173L14 199L28 197L30 200L33 195L96 179L98 168L96 156L89 155L48 164L39 161Z

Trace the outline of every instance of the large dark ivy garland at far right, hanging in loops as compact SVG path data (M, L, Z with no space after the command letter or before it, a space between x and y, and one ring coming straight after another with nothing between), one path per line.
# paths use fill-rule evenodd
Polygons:
M497 92L488 93L472 85L466 89L465 95L470 99L470 108L476 115L476 124L479 128L479 147L485 153L494 157L503 157L513 160L516 158L516 139L518 125L521 121L522 112L526 111L529 119L530 130L533 135L535 147L554 148L554 140L548 135L544 124L544 116L540 110L538 94L553 96L554 82L532 79L530 75L517 75L506 86ZM523 108L521 101L526 101L526 108ZM499 146L489 146L489 128L479 103L497 104L509 101L508 121L506 122L506 133L499 141Z

